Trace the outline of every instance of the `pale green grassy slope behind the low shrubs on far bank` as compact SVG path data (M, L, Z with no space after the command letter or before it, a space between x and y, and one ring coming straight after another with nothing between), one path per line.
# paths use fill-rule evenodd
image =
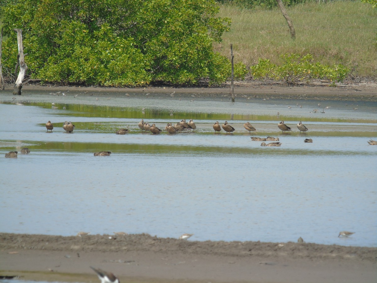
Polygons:
M281 63L281 54L310 53L315 62L343 64L351 76L377 78L377 9L360 2L306 3L287 8L296 30L291 40L287 22L279 8L241 9L222 5L219 16L230 17L231 31L215 49L234 62L247 66L259 58Z

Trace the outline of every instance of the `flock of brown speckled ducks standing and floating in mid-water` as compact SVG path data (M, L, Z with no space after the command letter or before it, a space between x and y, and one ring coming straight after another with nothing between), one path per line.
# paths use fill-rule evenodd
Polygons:
M159 134L162 132L161 129L159 129L155 124L152 124L152 126L149 125L148 122L144 123L144 119L141 119L141 121L138 123L139 128L141 131L150 131L152 134ZM228 124L228 121L225 121L224 124L220 125L218 121L216 121L215 124L213 124L213 129L215 130L215 134L217 132L221 132L221 129L223 129L227 134L234 132L236 129L234 129L231 125ZM289 126L285 125L284 121L281 121L280 123L277 124L277 127L284 132L292 131L292 128ZM75 125L73 125L71 122L65 121L63 124L63 129L67 133L72 133L75 128ZM244 123L244 128L250 133L251 131L256 132L256 128L250 124L250 122ZM52 125L51 121L48 121L46 123L46 129L47 132L52 132L52 129L54 129L54 125ZM192 119L190 119L189 122L186 122L185 119L181 120L181 122L176 123L174 126L172 123L167 123L165 130L169 134L175 134L176 132L182 132L186 130L195 130L196 125L193 122ZM300 121L297 124L297 129L299 129L300 134L301 132L306 132L308 131L308 128L302 124ZM129 133L129 129L119 129L118 131L115 132L117 135L125 135ZM260 138L260 137L251 137L251 140L253 141L274 141L272 143L266 144L265 142L261 143L261 146L280 146L281 143L279 142L279 138L274 138L267 136L266 138ZM313 140L311 138L305 138L304 140L305 143L313 143ZM369 145L377 145L377 141L375 140L369 140L368 141ZM29 153L30 150L28 148L23 148L21 149L22 153ZM17 157L18 151L9 151L8 153L5 154L5 157ZM100 152L95 152L94 156L106 156L110 155L111 151L100 151Z

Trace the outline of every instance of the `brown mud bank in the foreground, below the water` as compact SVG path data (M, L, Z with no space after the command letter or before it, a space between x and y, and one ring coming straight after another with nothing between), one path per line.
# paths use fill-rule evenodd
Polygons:
M111 238L109 238L111 237ZM185 241L147 234L63 237L0 234L0 275L97 282L376 282L377 248Z

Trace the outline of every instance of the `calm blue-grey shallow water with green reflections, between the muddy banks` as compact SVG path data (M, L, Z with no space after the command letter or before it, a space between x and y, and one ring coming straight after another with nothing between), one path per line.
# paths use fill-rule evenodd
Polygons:
M46 97L0 96L2 232L193 233L190 240L199 241L302 237L377 246L377 146L366 142L377 136L375 103L354 110L355 103L326 101L331 108L313 113L317 101L297 102L300 108L293 100L88 97L75 104L51 96L58 107L52 109ZM139 130L141 118L161 129L193 118L197 129L152 135ZM279 131L282 119L292 132ZM52 133L46 133L48 120ZM66 120L76 126L72 134L63 131ZM228 120L236 131L215 134L216 120ZM308 132L299 134L299 120ZM258 132L249 134L245 121ZM130 133L115 135L119 128ZM250 139L267 135L282 146ZM30 154L4 158L25 146ZM98 151L112 154L94 157ZM344 230L356 234L338 238Z

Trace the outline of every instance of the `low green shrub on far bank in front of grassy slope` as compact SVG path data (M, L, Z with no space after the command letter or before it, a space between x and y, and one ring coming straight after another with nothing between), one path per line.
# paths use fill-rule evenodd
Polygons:
M250 71L254 79L273 78L284 80L288 84L295 84L302 80L313 78L328 79L330 82L342 82L349 74L349 69L339 65L322 65L313 63L311 54L284 54L281 56L283 63L275 65L268 59L260 59L256 65L251 66Z

